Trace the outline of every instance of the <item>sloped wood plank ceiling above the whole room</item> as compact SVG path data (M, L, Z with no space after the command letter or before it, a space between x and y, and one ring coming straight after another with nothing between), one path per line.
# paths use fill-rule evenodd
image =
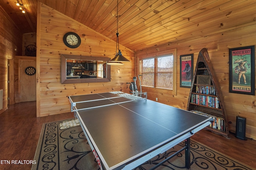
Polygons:
M30 33L36 32L38 2L116 41L117 0L0 0L0 6ZM118 0L119 43L139 51L252 25L255 6L255 0Z

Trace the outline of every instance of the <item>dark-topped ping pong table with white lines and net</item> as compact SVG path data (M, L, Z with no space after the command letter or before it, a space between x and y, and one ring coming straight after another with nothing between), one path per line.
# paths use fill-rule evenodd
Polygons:
M185 141L190 168L190 137L210 125L212 117L178 109L123 92L68 96L102 170L132 170ZM156 165L154 168L157 168Z

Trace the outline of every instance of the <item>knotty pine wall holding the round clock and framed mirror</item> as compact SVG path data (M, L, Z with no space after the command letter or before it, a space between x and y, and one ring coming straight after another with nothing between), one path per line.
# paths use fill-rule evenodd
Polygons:
M46 116L70 111L67 96L109 91L128 92L126 82L131 82L135 73L135 53L122 45L122 54L132 61L123 66L111 66L111 82L103 83L60 83L60 54L93 57L114 57L116 42L102 36L81 23L49 8L38 6L37 19L37 116ZM76 32L81 45L76 49L66 47L63 36ZM120 35L122 36L122 35Z

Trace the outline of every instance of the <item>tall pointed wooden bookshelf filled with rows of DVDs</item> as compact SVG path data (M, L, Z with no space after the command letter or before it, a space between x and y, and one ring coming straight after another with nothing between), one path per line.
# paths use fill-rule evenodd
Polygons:
M205 129L229 138L226 109L206 48L198 55L187 110L213 117Z

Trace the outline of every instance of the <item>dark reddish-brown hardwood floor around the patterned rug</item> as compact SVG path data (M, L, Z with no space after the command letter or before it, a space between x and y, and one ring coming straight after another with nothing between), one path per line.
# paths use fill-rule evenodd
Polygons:
M7 111L0 114L0 170L30 170L31 164L4 164L4 161L33 160L42 124L72 117L74 114L71 112L36 117L36 102L10 105ZM256 168L256 141L243 141L233 134L230 137L226 139L202 130L192 139Z

